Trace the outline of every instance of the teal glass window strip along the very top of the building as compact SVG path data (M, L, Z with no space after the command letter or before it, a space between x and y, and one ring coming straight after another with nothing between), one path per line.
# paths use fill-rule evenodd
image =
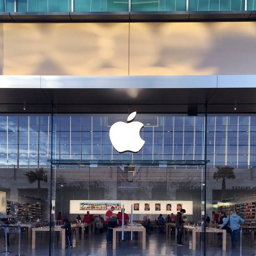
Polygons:
M176 12L256 10L254 0L1 0L1 12Z

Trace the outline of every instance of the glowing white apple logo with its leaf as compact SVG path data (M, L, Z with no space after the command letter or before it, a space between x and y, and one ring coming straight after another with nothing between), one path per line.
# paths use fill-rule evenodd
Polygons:
M126 151L137 153L145 143L145 140L140 137L140 129L144 124L137 121L132 122L136 114L136 112L132 112L127 118L127 123L116 122L110 127L110 141L119 153Z

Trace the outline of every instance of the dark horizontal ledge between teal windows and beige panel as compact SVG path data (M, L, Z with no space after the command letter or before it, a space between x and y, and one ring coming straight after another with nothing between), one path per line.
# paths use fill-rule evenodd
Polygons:
M206 22L252 21L256 11L0 12L0 22Z

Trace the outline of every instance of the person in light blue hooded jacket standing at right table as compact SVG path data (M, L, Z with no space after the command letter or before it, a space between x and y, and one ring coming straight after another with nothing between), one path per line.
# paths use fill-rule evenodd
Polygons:
M244 223L244 220L236 214L235 210L229 211L229 216L223 221L222 224L220 224L220 229L222 229L226 224L231 228L231 249L236 249L236 241L237 241L237 234L240 228L240 225Z

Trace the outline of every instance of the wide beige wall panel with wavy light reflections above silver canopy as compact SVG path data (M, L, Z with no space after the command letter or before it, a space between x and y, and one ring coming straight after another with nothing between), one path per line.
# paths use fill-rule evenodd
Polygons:
M255 22L8 22L0 32L1 75L255 74Z

